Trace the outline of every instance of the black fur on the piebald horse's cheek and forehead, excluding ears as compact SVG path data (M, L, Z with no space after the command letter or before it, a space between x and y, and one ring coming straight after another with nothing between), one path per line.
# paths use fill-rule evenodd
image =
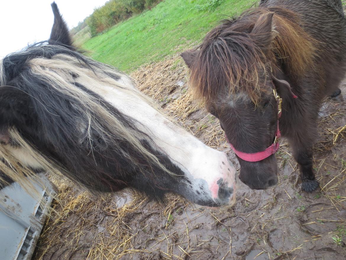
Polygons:
M91 63L95 65L95 62L86 60L80 54L57 45L35 45L23 53L9 55L3 62L9 80L6 83L8 87L2 87L0 92L0 128L16 127L26 140L47 157L54 159L60 167L72 173L76 181L95 190L111 192L132 187L162 199L166 192L177 188L179 179L164 173L155 165L148 164L129 142L114 137L114 141L121 144L122 150L113 150L111 144L103 143L95 134L91 144L82 140L80 145L81 135L77 133L76 119L87 122L88 119L83 118L80 111L88 110L88 107L83 107L81 101L73 96L55 91L49 87L44 77L34 76L30 67L22 63L23 60L29 61L37 57L50 58L53 53L79 58L86 66ZM20 68L15 66L16 64ZM172 164L169 157L150 146L150 137L135 127L138 122L119 112L88 88L77 83L75 86L91 95L127 129L137 132L138 136L145 136L146 140L142 140L142 143L169 170L184 175ZM106 122L99 123L104 130L111 132ZM95 130L91 129L91 132ZM90 154L91 149L93 155ZM137 159L137 163L128 161L124 154L131 154ZM160 176L160 181L155 175Z

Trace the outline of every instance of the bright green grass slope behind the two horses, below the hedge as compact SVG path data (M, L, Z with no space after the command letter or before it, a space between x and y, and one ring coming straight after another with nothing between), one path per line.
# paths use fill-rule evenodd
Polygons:
M95 60L131 72L201 42L227 16L239 15L256 0L165 0L91 38L82 47Z

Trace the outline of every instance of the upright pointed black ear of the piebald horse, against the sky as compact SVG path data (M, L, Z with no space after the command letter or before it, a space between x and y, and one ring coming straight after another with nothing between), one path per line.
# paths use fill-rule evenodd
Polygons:
M72 40L69 34L69 29L62 18L58 6L55 2L52 3L52 10L54 14L54 24L52 27L51 37L49 44L64 45L65 47L72 47Z

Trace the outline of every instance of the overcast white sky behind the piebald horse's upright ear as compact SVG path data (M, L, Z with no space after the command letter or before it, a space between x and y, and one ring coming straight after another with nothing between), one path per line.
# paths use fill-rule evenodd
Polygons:
M107 0L55 0L69 28ZM53 0L1 0L0 58L28 43L48 40L53 25Z

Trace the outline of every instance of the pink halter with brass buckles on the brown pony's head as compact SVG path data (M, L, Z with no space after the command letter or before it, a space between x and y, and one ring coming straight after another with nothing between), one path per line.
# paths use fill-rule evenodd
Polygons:
M280 80L275 78L274 76L272 76L275 80L279 81L280 83L284 84L285 86L288 87L291 95L293 98L297 98L296 95L293 94L292 89L290 84L286 81L286 80ZM282 104L282 98L280 98L279 94L277 94L276 92L276 88L274 85L274 82L272 81L272 85L273 85L273 93L274 93L274 97L277 103L277 127L276 127L276 131L275 131L275 138L274 138L274 142L271 146L269 146L268 148L266 148L264 151L260 151L257 153L244 153L242 151L238 151L237 149L234 148L234 146L228 141L227 136L226 136L226 140L228 142L228 144L230 145L230 147L233 149L234 153L241 159L243 159L244 161L247 162L258 162L258 161L262 161L263 159L271 156L272 154L275 154L277 152L277 150L279 150L280 144L278 139L281 137L281 132L279 129L279 119L281 117L282 114L282 109L281 109L281 104Z

